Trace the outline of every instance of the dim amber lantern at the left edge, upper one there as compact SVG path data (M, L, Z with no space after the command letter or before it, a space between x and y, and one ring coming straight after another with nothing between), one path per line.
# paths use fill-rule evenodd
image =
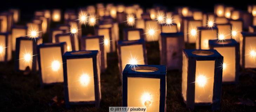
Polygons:
M13 25L13 15L9 12L3 12L0 14L1 20L1 32L6 33L7 31L11 31L11 26Z

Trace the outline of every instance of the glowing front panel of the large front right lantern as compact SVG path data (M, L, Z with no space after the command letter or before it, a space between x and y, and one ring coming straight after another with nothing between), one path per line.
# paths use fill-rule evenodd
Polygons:
M196 61L195 103L213 102L215 61Z

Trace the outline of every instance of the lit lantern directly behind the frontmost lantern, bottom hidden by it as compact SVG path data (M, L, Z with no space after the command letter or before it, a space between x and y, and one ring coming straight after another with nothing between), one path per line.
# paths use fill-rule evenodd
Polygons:
M147 64L147 51L143 39L134 41L118 41L118 60L120 78L126 64Z

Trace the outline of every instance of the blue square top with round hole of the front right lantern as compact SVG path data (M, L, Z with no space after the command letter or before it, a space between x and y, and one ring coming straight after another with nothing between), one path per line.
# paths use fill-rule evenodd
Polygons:
M216 58L223 58L223 56L215 49L197 50L184 49L184 53L188 58L196 58L196 60L215 60Z

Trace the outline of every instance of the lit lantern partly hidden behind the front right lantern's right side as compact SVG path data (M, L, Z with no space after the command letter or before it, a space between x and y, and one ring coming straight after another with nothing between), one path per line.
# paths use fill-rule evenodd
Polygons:
M239 43L234 39L228 39L224 42L218 40L209 40L210 49L217 50L224 58L222 62L222 83L238 82L240 48Z

